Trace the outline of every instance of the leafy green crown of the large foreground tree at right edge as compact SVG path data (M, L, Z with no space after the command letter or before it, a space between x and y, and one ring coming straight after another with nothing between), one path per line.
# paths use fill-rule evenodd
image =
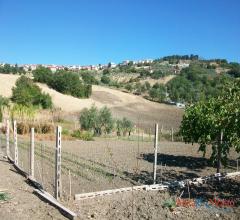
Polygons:
M240 80L226 85L218 97L187 107L180 132L185 142L198 143L204 156L212 147L210 159L219 173L230 148L240 152Z

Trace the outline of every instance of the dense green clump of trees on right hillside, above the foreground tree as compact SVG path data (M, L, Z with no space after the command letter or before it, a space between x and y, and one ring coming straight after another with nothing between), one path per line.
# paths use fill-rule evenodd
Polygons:
M221 87L232 80L228 75L217 75L214 70L192 64L167 83L167 91L173 101L196 102L218 95Z

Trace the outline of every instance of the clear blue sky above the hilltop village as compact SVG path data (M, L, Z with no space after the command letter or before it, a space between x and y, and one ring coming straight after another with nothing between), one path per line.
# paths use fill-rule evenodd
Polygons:
M0 62L240 62L239 0L0 0Z

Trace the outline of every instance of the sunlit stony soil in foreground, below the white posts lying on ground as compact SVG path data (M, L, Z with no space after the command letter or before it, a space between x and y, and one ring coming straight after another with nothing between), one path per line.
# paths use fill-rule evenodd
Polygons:
M239 183L239 182L238 182ZM238 185L239 187L239 185ZM239 193L239 188L238 188ZM125 220L125 219L231 219L240 218L240 208L219 208L207 206L206 200L195 207L176 207L170 210L164 207L164 202L169 199L176 201L176 196L169 192L130 192L112 196L105 196L96 199L88 199L75 202L75 207L80 219L101 219L101 220ZM237 196L236 196L237 197ZM196 201L196 200L194 200ZM238 201L239 194L238 194ZM89 209L89 207L91 207Z

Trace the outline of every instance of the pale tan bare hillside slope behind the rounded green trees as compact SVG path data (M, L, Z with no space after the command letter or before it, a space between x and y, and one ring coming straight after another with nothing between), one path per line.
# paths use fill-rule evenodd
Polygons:
M11 89L19 76L0 74L0 95L10 97ZM44 84L38 84L42 90L51 95L54 106L66 112L79 112L93 104L97 107L104 105L111 108L115 117L128 117L140 126L153 126L155 122L165 128L178 127L183 110L175 106L154 103L142 97L124 93L118 90L93 86L93 93L89 99L78 99L61 94Z

